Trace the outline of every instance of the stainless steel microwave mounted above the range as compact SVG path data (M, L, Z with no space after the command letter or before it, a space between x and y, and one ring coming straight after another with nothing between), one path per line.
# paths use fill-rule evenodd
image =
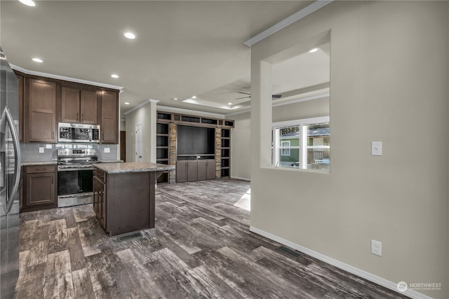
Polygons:
M100 142L100 125L59 123L58 142Z

